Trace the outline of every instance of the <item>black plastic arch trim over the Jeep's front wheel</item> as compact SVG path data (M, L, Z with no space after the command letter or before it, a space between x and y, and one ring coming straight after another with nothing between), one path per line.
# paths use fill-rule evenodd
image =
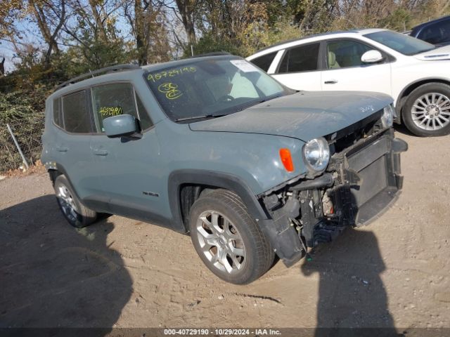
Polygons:
M188 232L188 211L193 202L200 197L201 192L217 188L224 188L238 194L255 219L266 220L268 218L268 214L259 203L255 193L238 176L229 173L186 169L174 171L169 176L169 204L174 222L184 225Z

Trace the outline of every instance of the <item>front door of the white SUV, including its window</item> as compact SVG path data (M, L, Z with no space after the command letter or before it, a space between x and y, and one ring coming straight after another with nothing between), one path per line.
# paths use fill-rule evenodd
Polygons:
M385 60L364 63L361 56L373 47L352 39L326 41L326 65L321 73L324 91L376 91L392 95L391 65Z

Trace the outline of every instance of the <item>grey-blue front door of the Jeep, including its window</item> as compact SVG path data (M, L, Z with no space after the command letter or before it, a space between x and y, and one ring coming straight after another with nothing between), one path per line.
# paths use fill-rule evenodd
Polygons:
M100 199L108 199L111 213L160 223L160 145L156 128L129 83L113 83L91 88L92 107L98 133L91 138L95 189ZM103 119L131 114L143 131L141 138L108 138Z

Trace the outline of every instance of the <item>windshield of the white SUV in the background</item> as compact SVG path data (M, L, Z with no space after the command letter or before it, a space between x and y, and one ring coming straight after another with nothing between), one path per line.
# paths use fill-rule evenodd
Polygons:
M394 49L404 55L416 55L425 51L431 51L435 48L428 42L410 37L409 35L392 32L390 30L383 30L382 32L376 32L366 34L364 37L368 37L373 41L377 41L380 44Z

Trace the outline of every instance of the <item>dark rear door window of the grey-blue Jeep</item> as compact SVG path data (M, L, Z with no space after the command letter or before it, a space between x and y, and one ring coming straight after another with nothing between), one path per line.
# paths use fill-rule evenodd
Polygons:
M86 105L86 91L63 96L64 128L72 133L90 133L91 116Z

